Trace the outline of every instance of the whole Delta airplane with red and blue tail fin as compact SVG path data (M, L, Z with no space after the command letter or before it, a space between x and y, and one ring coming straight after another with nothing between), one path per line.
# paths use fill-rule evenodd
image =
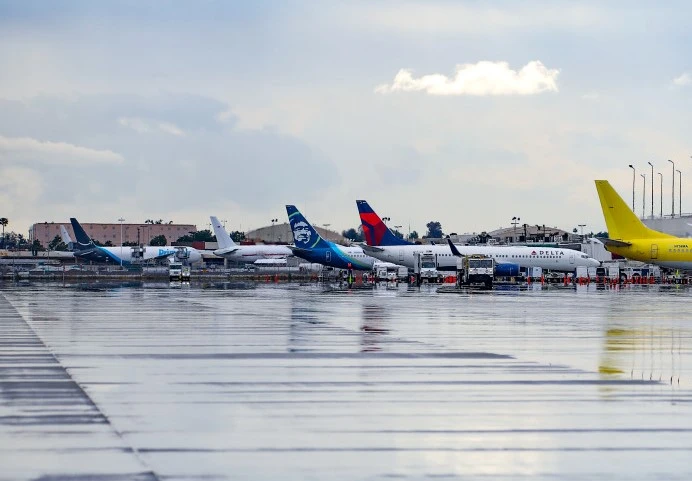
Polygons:
M389 262L396 262L413 268L415 255L420 252L437 254L438 269L456 270L456 257L448 245L413 244L396 237L382 219L364 200L357 200L360 221L365 234L366 245L363 250L368 255ZM487 255L495 259L497 276L519 275L521 267L541 267L551 271L573 272L577 267L598 267L601 265L581 251L561 247L531 246L456 246L461 255Z

